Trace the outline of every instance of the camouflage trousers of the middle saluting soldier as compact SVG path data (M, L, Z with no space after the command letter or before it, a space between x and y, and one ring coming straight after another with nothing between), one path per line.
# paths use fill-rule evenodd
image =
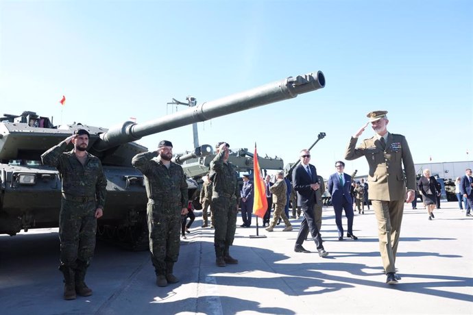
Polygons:
M156 275L165 275L167 263L178 261L182 206L178 203L147 204L149 251Z

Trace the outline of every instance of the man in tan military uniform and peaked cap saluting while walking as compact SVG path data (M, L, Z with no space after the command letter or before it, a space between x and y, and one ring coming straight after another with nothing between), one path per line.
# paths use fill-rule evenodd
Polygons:
M361 127L350 139L345 159L355 160L364 156L368 162L369 200L372 201L378 221L379 247L387 275L386 283L394 284L400 279L394 264L404 201L410 203L415 196L415 168L406 138L387 131L389 121L386 114L382 110L367 114L376 134L363 140L355 149L358 137L369 123Z

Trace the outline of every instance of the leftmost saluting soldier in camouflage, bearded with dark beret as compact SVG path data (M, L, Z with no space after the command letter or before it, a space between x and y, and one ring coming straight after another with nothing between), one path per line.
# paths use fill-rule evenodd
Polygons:
M86 270L94 255L97 218L104 212L107 179L100 160L86 151L89 134L78 129L43 155L43 164L58 169L62 182L59 214L60 266L64 274L64 299L88 297ZM64 152L72 142L74 149Z

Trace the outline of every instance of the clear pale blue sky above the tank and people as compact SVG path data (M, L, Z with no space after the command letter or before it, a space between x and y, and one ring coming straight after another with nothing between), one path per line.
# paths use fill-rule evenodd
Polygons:
M324 89L199 123L200 143L257 142L287 163L324 131L311 162L328 177L367 112L387 110L414 162L472 160L472 16L472 1L0 1L0 114L144 123L172 98L323 71ZM191 126L138 143L162 139L193 147Z

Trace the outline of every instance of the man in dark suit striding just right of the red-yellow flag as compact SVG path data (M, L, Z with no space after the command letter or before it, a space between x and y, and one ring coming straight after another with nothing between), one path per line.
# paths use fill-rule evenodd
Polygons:
M298 192L298 206L302 207L304 219L300 223L298 239L295 241L294 251L297 253L310 253L302 247L302 243L307 238L307 234L311 231L313 240L320 257L326 257L328 253L322 245L322 237L319 229L315 224L314 205L317 203L315 190L320 188L319 179L315 166L308 164L311 161L311 153L304 149L300 152L300 164L293 170L292 182L293 188Z

